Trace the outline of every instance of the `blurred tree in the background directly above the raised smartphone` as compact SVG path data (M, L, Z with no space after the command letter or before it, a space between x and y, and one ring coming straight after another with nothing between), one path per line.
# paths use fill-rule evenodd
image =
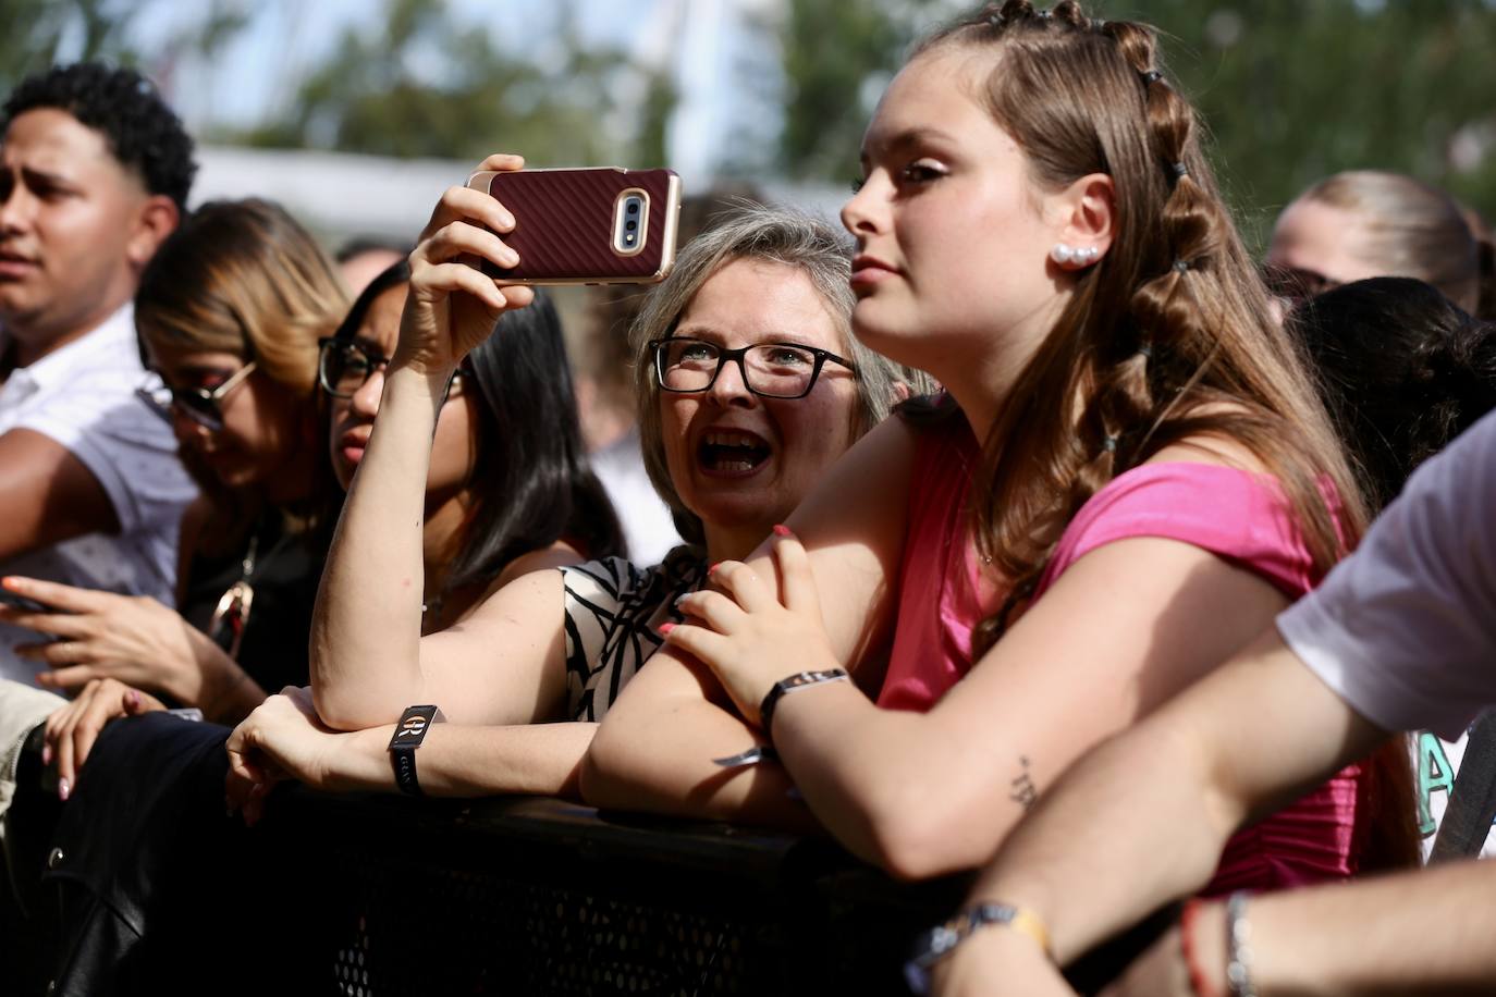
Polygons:
M516 57L485 24L452 18L444 0L387 0L383 15L343 34L284 115L239 138L395 157L516 149L536 163L663 160L669 81L616 48L583 43L570 3L560 22ZM630 93L639 108L625 105Z

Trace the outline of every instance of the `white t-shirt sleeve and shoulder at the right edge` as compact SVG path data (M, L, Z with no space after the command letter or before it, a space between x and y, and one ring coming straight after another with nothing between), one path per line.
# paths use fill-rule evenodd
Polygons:
M1418 468L1278 631L1390 731L1454 741L1496 704L1496 413Z

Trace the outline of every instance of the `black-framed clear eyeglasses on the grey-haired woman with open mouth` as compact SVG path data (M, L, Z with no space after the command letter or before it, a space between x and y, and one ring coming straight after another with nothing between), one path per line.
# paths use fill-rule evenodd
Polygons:
M705 392L717 383L723 365L738 363L744 386L763 398L805 398L815 387L826 362L839 363L856 372L851 360L829 350L802 347L797 342L758 342L751 347L724 350L705 339L672 336L651 339L655 375L667 392Z

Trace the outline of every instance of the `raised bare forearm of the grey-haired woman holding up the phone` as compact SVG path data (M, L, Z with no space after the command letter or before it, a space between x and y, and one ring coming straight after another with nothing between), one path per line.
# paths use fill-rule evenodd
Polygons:
M390 368L317 592L311 688L326 723L359 729L422 701L422 528L443 384Z

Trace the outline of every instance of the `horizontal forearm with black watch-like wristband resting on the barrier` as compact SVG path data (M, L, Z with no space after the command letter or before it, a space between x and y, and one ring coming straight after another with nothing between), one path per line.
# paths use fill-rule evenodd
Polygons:
M467 726L437 723L417 749L420 789L429 797L530 794L579 798L577 770L595 723ZM389 738L395 725L356 731L334 761L329 789L393 792Z

